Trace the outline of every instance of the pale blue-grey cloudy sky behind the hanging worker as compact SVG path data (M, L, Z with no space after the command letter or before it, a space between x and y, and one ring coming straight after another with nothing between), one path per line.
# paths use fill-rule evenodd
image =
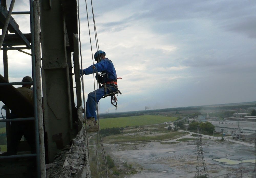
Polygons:
M27 0L18 4L25 8ZM92 56L85 1L79 5L86 68ZM117 112L256 101L256 1L97 0L93 10L99 47L122 78ZM94 54L91 8L88 13ZM15 18L25 32L28 18ZM21 81L31 73L29 57L12 53L10 82ZM93 75L84 82L87 95ZM100 105L101 113L115 112L110 98Z

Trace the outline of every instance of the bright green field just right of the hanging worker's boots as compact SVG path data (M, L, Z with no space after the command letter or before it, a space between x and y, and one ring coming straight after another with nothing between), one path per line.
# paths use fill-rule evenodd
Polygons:
M108 118L100 119L100 128L112 128L112 127L125 127L125 126L141 126L141 125L152 125L160 124L169 121L177 120L177 117L167 117L167 116L154 116L154 115L144 115L144 116L131 116L131 117L120 117L120 118Z

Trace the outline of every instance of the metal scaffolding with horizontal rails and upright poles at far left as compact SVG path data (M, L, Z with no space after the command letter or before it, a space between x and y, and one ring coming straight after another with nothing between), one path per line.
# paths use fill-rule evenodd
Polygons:
M2 35L0 38L0 45L3 46L3 60L4 60L4 77L0 76L0 87L1 87L1 95L0 100L8 106L6 109L6 116L9 114L9 109L15 111L20 118L15 119L5 119L0 120L0 122L6 122L6 130L7 130L7 150L9 148L9 128L10 122L16 121L34 121L35 127L35 154L22 154L22 155L10 155L10 156L1 156L0 159L13 159L13 158L24 158L24 157L36 157L36 176L37 177L46 177L45 174L45 160L40 159L40 154L44 156L44 142L43 142L43 132L40 134L41 147L39 144L39 128L38 122L42 122L42 110L38 111L38 105L41 106L41 96L38 96L38 93L41 93L40 84L40 41L36 40L35 38L40 39L39 37L39 26L38 24L35 27L34 21L39 21L39 2L29 0L30 11L22 11L22 12L12 12L14 7L15 0L12 0L9 11L6 9L6 0L1 0L0 5L0 21L3 24ZM35 9L35 13L34 13ZM19 30L18 24L15 20L11 17L11 14L29 14L30 15L30 34L23 34ZM34 19L37 18L37 19ZM8 34L7 30L11 33L15 34ZM36 34L36 35L35 35ZM13 46L22 46L22 47L13 47ZM31 64L32 64L32 78L33 82L12 82L9 83L8 81L8 58L7 58L7 51L8 50L18 50L23 52L22 49L31 49ZM35 53L35 51L37 51ZM39 54L38 54L39 51ZM26 52L25 52L26 53ZM38 60L39 61L36 61ZM37 63L37 64L36 64ZM37 72L36 72L37 71ZM38 73L39 71L39 73ZM33 85L33 97L34 97L34 107L28 105L27 101L24 100L24 97L12 86L12 85L22 85L22 84L32 84ZM39 98L40 97L40 98ZM14 100L12 100L12 98ZM15 102L14 102L15 101ZM21 102L23 106L17 105L16 102ZM33 117L23 117L31 115ZM39 118L39 117L40 118ZM42 128L40 128L42 129ZM43 157L44 158L44 157ZM41 164L43 166L41 166Z

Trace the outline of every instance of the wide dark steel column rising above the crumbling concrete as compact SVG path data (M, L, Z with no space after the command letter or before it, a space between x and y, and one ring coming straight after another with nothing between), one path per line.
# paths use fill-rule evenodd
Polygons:
M48 160L72 137L72 107L67 63L65 21L60 0L51 1L50 9L40 0L42 91ZM51 19L51 20L49 20Z

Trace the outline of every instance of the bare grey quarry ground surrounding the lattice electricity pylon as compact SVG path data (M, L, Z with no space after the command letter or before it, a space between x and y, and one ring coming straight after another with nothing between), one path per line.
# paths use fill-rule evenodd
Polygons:
M127 131L126 131L127 132ZM183 133L183 132L180 132ZM132 135L159 135L158 132L128 131L126 136ZM183 133L184 135L184 133ZM186 134L185 134L186 135ZM176 137L177 138L177 137ZM106 139L109 141L109 139ZM203 141L204 159L210 177L253 167L251 162L239 164L225 164L213 159L227 158L232 160L255 160L255 148L232 142L220 142L213 139ZM104 137L103 137L104 142ZM169 142L170 143L170 142ZM109 177L194 177L197 165L196 140L188 142L176 142L161 144L159 141L147 143L107 144L104 142L106 155L114 160L115 167L112 170L120 172L120 175ZM127 168L126 165L130 165ZM91 168L93 169L93 168ZM92 177L97 177L92 175ZM221 176L221 177L227 177ZM241 172L232 173L229 177L241 177ZM242 177L255 177L253 168L243 170Z

